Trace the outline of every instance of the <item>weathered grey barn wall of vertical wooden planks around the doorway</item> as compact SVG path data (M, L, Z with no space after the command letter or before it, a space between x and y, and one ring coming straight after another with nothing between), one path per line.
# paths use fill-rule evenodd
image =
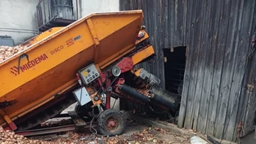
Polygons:
M256 111L256 56L247 55L256 29L255 0L119 3L120 10L143 9L157 56L142 67L163 83L162 48L187 46L179 127L232 141L239 121L245 133L251 131Z

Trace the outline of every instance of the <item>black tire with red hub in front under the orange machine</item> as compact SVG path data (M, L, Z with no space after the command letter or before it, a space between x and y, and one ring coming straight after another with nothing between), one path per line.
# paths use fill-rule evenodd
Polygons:
M112 123L113 121L115 121L114 125ZM103 111L98 117L98 132L101 135L122 135L125 128L126 120L123 118L120 111L108 109Z

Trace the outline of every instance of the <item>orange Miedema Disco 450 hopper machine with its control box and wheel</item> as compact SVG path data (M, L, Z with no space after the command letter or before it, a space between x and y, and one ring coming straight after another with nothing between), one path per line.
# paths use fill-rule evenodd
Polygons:
M150 101L124 85L126 72L151 86L160 83L144 69L134 71L154 54L142 20L141 10L95 13L23 43L27 50L0 64L0 125L33 128L78 101L80 110L89 103L88 109L105 110L98 118L99 132L121 134L124 121L110 109L110 97L129 94Z

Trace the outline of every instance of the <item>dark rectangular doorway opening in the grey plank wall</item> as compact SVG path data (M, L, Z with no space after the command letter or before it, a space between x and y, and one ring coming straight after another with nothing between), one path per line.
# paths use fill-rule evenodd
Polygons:
M164 49L165 89L181 95L186 65L186 47Z

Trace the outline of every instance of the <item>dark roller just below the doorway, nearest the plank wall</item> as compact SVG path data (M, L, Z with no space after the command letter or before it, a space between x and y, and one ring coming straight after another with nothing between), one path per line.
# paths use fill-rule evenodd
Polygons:
M157 94L153 94L153 97L151 97L151 100L154 100L158 104L162 104L164 107L167 107L171 110L176 110L179 106L177 103L169 102L168 100L165 100L164 98L158 96Z

